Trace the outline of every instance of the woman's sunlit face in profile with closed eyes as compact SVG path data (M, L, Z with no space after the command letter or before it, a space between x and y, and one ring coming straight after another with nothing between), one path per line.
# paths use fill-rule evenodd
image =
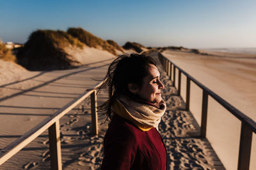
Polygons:
M143 85L137 94L150 103L159 103L162 100L161 89L164 89L164 85L159 79L160 73L157 67L153 64L149 66L149 75L143 79Z

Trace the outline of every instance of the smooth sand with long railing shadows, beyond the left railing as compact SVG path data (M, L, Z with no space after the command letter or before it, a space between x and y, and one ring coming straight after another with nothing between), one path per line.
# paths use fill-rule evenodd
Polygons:
M3 68L1 75L3 76L0 80L0 148L4 148L79 96L84 90L94 86L98 83L95 80L101 80L104 77L102 73L106 72L108 64L114 56L93 48L86 52L89 53L87 64L59 71L32 72L17 64L1 61L1 68ZM70 126L77 122L76 116L73 117L65 124ZM85 122L90 122L90 119ZM3 164L1 169L22 169L36 166L37 163L29 163L28 160L31 157L38 159L42 155L43 159L49 159L49 153L40 153L42 149L48 147L47 138L45 138L47 132L42 136Z

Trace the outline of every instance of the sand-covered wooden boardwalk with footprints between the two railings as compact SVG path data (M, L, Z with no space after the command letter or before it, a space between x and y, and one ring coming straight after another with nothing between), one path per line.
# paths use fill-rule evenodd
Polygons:
M159 62L157 54L157 52L148 53ZM168 106L159 125L159 131L168 151L168 169L225 169L209 141L198 137L200 136L199 125L193 115L186 110L186 104L179 96L177 89L173 87L173 82L164 72L161 64L158 64L158 69L165 86L163 99ZM102 71L99 71L99 74L102 74ZM77 74L76 78L79 78ZM97 96L98 105L106 100L106 96L106 91L100 92ZM103 139L108 129L108 122L105 122L105 118L99 114L99 134L92 135L90 114L90 99L85 99L60 120L63 169L100 168L103 158ZM50 169L48 143L47 132L44 132L4 163L0 169L12 169L13 164L17 169ZM20 158L22 161L16 161Z

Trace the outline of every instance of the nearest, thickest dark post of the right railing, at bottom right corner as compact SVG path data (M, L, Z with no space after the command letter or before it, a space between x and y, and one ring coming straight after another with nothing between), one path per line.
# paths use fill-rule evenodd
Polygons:
M252 129L244 122L241 125L241 136L238 157L238 170L248 170L250 167L250 155L252 147Z

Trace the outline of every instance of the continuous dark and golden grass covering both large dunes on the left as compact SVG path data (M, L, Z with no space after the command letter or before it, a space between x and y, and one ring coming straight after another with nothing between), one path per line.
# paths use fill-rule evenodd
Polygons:
M67 69L81 63L67 53L66 47L84 48L85 45L114 55L118 48L116 43L111 45L82 28L69 28L67 32L39 29L32 32L25 45L19 49L17 62L29 70Z

